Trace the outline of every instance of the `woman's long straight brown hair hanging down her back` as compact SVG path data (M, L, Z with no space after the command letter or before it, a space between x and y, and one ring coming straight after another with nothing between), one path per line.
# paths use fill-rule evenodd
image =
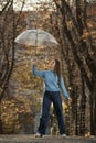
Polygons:
M54 72L56 73L56 75L57 75L57 77L58 77L58 85L60 85L61 76L62 76L62 68L61 68L61 63L60 63L58 59L55 59Z

